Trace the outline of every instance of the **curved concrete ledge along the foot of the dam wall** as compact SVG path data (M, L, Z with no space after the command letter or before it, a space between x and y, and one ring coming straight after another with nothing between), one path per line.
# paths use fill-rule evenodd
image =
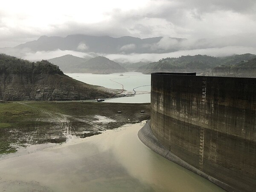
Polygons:
M184 160L177 157L175 154L173 154L171 151L169 151L165 146L163 146L157 138L154 136L151 127L150 127L150 121L147 122L143 128L140 129L138 132L138 137L144 143L148 148L153 150L154 152L162 155L168 160L171 160L174 163L177 163L180 166L183 166L186 169L189 169L190 171L208 179L212 183L215 183L216 185L220 186L221 188L230 191L230 192L236 192L237 190L233 187L227 185L226 183L221 182L218 179L215 179L214 177L211 177L210 175L207 175L206 173L200 171L199 169L196 169L195 167L189 165Z

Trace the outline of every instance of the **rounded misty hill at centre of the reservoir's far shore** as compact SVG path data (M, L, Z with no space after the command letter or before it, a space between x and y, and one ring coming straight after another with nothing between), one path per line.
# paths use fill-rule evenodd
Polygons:
M83 73L94 74L120 73L126 71L120 64L102 56L91 58L77 65L76 68L82 69Z

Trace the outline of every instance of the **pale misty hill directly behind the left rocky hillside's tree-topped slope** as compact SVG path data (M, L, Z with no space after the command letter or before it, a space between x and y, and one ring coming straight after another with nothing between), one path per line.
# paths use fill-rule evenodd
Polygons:
M61 57L48 59L47 61L51 62L52 64L58 65L61 70L65 71L66 69L73 68L74 66L77 66L82 62L88 60L88 58L81 58L73 55L63 55Z

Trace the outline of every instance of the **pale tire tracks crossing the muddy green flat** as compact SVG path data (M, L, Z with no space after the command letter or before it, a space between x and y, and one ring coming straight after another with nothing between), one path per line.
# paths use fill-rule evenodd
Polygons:
M75 120L80 121L80 122L87 123L88 125L92 125L92 126L98 128L98 129L101 130L101 131L105 131L105 130L106 130L105 128L103 128L103 127L101 127L101 126L96 125L96 124L94 124L93 122L86 121L86 120L84 120L84 119L79 119L79 118L76 118L76 117L74 117L74 116L66 115L66 114L63 114L63 113L57 113L57 112L54 112L54 111L49 111L49 110L45 110L45 109L33 107L33 106L27 105L27 104L22 103L22 102L17 102L17 103L19 103L19 104L21 104L21 105L28 106L28 107L30 107L30 108L38 109L38 110L42 111L43 113L46 113L46 114L48 114L49 116L52 116L52 117L57 117L57 116L54 116L53 114L60 115L60 116L64 117L63 119L65 119L64 121L66 121L66 122L67 122L67 118L70 118L70 119L75 119ZM58 118L58 117L57 117L57 118ZM61 123L63 122L63 119L60 120ZM69 125L69 126L68 126L68 125ZM70 122L67 122L67 126L66 126L66 128L67 128L67 135L68 135L68 131L71 131L71 130L69 130L69 127L70 127Z

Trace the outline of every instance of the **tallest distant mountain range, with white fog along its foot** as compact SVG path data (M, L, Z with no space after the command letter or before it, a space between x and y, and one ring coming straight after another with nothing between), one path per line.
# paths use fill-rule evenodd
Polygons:
M81 58L105 56L118 63L150 63L161 58L181 55L229 56L251 52L256 54L255 40L246 37L225 38L136 38L123 36L67 35L41 36L16 47L0 48L0 52L29 61L74 55Z

